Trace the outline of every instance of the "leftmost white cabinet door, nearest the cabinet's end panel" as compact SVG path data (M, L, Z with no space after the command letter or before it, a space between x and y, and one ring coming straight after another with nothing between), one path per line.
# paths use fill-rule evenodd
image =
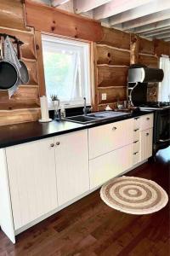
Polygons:
M15 230L58 206L53 145L50 138L6 148Z

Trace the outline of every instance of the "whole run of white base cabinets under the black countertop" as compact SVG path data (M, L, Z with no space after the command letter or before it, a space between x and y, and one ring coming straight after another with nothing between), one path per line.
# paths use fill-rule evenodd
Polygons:
M152 154L153 114L0 150L0 222L14 236ZM4 190L4 191L3 191ZM3 193L2 193L3 191Z

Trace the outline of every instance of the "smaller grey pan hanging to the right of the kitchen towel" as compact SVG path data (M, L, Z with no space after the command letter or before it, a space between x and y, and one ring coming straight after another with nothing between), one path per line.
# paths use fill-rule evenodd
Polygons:
M29 73L26 67L26 64L20 60L21 54L20 54L20 43L17 41L17 53L18 53L18 59L20 61L20 80L23 84L27 84L29 82Z

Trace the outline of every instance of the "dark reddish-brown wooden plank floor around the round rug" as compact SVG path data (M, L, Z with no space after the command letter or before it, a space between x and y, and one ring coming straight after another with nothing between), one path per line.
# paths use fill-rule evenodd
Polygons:
M155 180L169 194L170 148L156 163L129 176ZM149 215L130 215L107 207L99 190L17 236L15 245L0 231L0 256L168 256L170 208Z

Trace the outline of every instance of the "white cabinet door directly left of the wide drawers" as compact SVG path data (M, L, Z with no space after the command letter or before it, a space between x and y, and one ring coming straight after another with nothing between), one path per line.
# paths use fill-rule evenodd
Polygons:
M55 138L59 206L89 189L88 131Z

